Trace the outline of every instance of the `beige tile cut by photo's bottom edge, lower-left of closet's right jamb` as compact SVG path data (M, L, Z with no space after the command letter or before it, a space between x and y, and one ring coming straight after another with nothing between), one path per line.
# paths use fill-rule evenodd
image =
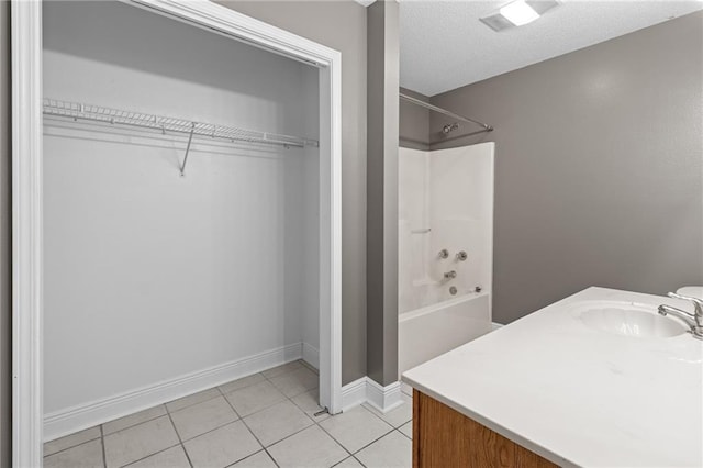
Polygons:
M268 448L281 468L331 467L349 454L319 426L313 425Z

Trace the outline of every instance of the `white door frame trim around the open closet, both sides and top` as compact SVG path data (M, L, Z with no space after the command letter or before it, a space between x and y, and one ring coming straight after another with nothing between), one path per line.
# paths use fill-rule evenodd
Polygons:
M320 402L342 411L342 54L208 0L120 0L320 70ZM43 458L42 2L13 0L12 465ZM327 157L324 157L327 156Z

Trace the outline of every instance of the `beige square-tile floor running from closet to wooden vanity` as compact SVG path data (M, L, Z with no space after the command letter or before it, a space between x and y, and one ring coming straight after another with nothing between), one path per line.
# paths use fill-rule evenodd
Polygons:
M46 468L410 467L411 397L314 416L294 361L44 444Z

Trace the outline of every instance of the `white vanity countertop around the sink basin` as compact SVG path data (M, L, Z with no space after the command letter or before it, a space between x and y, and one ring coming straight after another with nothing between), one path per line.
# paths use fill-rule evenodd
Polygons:
M560 466L703 467L703 342L587 327L570 305L669 298L589 288L402 380Z

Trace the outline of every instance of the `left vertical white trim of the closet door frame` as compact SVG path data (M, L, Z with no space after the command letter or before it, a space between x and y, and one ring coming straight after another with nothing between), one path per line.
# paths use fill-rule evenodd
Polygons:
M12 463L42 466L42 3L13 1Z

